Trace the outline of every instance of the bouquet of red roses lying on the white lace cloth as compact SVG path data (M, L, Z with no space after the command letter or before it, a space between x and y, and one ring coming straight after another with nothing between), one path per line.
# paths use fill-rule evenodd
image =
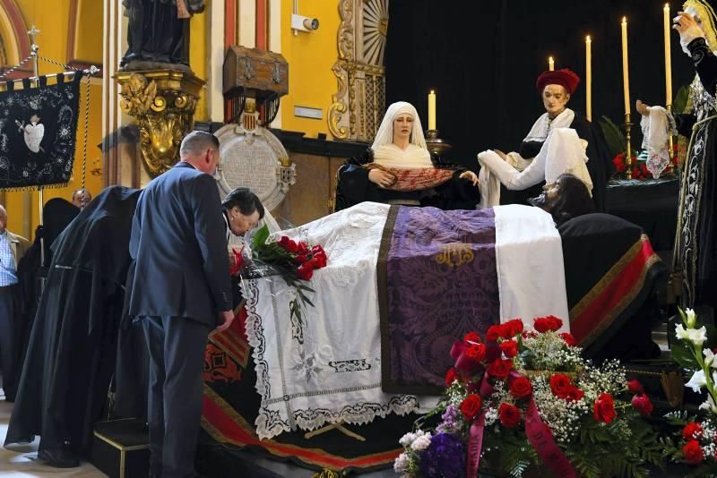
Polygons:
M269 228L264 225L252 239L252 258L279 274L287 285L294 287L296 297L289 301L289 312L292 328L300 330L301 304L314 305L307 293L315 291L306 282L313 277L316 269L326 267L326 252L321 244L312 246L306 241L289 239L286 235L282 235L276 242L267 243L268 239Z

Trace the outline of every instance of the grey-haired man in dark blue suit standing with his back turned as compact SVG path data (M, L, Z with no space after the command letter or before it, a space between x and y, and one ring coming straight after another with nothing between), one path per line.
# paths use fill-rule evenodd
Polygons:
M203 356L211 329L229 328L229 258L212 177L219 141L191 132L181 161L147 185L134 212L129 314L150 351L151 476L194 474L202 415ZM219 326L219 327L217 327Z

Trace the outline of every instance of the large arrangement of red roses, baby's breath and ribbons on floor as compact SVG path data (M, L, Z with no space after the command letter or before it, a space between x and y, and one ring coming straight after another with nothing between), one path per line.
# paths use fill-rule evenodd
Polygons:
M520 476L544 466L560 476L637 476L661 465L642 386L617 361L584 361L561 326L552 316L530 331L510 320L491 326L485 341L471 332L455 342L445 395L403 436L394 470L476 476L487 465Z

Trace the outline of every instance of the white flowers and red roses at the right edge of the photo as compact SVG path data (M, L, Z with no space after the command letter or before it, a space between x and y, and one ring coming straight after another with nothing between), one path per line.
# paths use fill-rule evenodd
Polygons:
M671 347L672 358L692 377L685 387L695 393L706 392L706 399L699 409L707 414L717 414L717 356L715 337L717 329L702 325L695 311L678 309L682 323L675 327L677 340ZM708 337L711 337L708 338ZM692 473L699 476L717 474L717 421L713 417L698 419L686 412L665 415L668 423L678 427L676 444L667 448L673 461L698 465Z

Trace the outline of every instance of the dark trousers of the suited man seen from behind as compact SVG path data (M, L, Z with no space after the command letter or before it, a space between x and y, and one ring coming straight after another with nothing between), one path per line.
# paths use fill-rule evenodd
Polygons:
M209 329L185 317L142 317L150 352L150 470L161 478L194 474L202 420L204 348Z

